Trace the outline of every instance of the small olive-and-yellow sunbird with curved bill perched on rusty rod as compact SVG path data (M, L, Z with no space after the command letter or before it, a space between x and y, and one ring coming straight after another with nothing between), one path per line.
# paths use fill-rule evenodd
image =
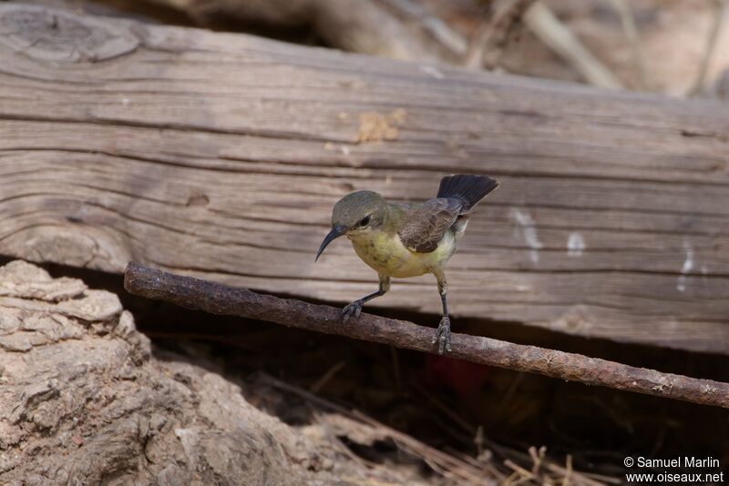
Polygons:
M332 210L332 230L323 239L316 260L335 238L346 235L354 252L380 278L376 292L356 299L342 309L346 322L358 318L365 302L385 295L390 278L432 273L438 283L443 319L433 337L438 353L450 345L445 266L456 253L466 230L468 212L498 187L491 177L458 174L443 177L436 198L422 203L394 203L373 191L356 191L342 197Z

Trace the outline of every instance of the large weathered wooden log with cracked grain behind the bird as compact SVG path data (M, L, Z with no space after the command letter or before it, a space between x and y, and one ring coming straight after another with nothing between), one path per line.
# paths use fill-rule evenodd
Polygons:
M356 189L501 187L448 271L458 320L729 352L729 112L707 101L0 5L0 253L131 259L346 302ZM432 278L373 306L436 313Z

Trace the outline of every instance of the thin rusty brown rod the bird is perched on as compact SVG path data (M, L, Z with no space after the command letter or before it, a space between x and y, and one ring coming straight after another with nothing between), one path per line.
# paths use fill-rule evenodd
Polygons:
M363 314L355 324L345 325L340 317L340 309L297 299L279 299L248 289L174 275L135 262L128 264L124 287L132 294L165 300L188 309L260 319L398 348L436 352L430 342L432 329L412 322ZM561 380L580 381L587 385L729 408L727 383L635 368L605 359L498 339L454 334L452 342L451 356L457 359Z

